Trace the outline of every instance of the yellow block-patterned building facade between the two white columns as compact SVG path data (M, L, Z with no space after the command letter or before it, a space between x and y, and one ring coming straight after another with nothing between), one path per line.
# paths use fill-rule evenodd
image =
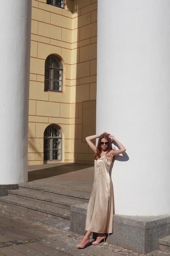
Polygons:
M63 64L62 92L44 90L45 60L51 54ZM97 0L66 0L64 9L32 0L30 165L44 163L44 130L50 124L62 131L62 162L93 161L85 137L95 133L96 75Z

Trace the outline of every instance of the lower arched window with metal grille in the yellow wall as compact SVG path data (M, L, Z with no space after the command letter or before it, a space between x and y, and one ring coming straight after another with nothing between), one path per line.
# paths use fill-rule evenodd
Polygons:
M62 160L62 132L54 124L44 131L44 160Z

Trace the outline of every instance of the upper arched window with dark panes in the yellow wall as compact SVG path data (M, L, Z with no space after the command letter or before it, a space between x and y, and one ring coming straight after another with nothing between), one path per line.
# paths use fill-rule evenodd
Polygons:
M49 55L45 61L44 90L62 91L63 66L55 55Z

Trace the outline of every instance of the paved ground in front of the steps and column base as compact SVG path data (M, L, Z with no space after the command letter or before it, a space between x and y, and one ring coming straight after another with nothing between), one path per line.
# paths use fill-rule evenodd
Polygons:
M0 212L0 256L144 256L107 242L77 249L75 245L81 237L79 234L60 229L60 223L58 228L53 228ZM157 250L148 255L165 254L169 256L170 252Z

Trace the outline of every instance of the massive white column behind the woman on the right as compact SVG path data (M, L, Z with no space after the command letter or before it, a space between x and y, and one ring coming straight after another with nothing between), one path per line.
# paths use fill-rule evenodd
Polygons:
M115 213L170 214L170 1L98 0L97 132L115 161ZM120 160L120 159L119 159Z

